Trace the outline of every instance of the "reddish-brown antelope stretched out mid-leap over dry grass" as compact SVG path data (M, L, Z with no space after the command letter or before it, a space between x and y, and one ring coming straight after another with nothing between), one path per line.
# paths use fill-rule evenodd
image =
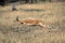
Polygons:
M24 24L24 25L39 25L41 27L49 27L49 26L46 26L42 24L42 20L40 19L23 19L23 20L20 20L18 19L18 16L16 17L16 20L20 23L20 24Z

